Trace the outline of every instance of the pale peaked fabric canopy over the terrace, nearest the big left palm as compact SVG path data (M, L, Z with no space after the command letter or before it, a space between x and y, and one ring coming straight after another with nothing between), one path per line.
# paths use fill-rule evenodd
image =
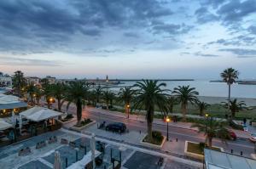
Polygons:
M35 106L29 110L21 112L20 115L24 116L30 121L44 121L60 116L62 113L55 110L49 110L44 107Z

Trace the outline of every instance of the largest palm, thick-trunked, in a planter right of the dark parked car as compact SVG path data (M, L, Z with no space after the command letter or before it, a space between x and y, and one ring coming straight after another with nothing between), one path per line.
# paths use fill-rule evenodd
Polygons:
M158 81L152 80L143 80L143 82L137 82L134 87L138 87L136 90L136 96L134 98L134 109L146 110L148 142L151 142L154 109L157 106L161 111L166 113L166 95L169 90L161 88L166 87L166 83L159 83Z

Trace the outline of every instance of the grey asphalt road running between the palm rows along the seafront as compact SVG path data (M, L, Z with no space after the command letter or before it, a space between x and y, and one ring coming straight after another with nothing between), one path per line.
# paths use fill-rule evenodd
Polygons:
M71 104L68 111L75 114L76 112L75 106ZM101 114L101 110L98 110L98 112L92 112L90 110L85 109L83 110L82 117L90 118L99 123L102 121L106 121L107 124L110 122L123 122L126 124L127 128L129 128L130 131L147 132L147 122L131 120L123 117L117 117L115 115L104 115L104 114ZM153 130L160 131L164 135L166 135L167 133L166 125L164 126L164 125L153 124ZM205 141L205 136L202 133L195 132L189 129L169 126L169 139L172 141L176 141L176 138L178 141L181 141L181 142L184 142L186 140L194 141L194 142ZM249 142L247 139L238 138L236 141L227 141L227 144L225 144L218 138L214 138L212 141L212 144L215 146L223 147L226 152L230 152L231 149L233 149L234 154L236 155L240 155L241 151L242 151L242 154L245 156L250 156L252 153L254 153L254 144Z

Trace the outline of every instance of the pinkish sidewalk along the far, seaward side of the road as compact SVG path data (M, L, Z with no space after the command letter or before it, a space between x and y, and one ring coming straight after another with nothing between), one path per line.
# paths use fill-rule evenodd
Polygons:
M103 115L112 115L112 116L116 116L119 118L127 118L127 116L124 113L120 113L118 111L109 111L109 110L102 110L102 109L97 109L97 108L92 108L92 107L87 107L85 110L88 110L90 112L93 113L101 113ZM146 122L146 119L143 115L129 115L129 119L133 120L133 121L143 121ZM166 126L166 122L160 119L154 119L153 123L155 125L163 125ZM191 122L169 122L169 127L177 127L177 128L183 128L183 129L187 129L187 130L193 130L193 131L198 131L197 128L195 127L191 127L193 123ZM245 132L245 131L241 131L241 130L235 130L232 129L233 132L236 133L237 138L250 138L250 133L249 132Z

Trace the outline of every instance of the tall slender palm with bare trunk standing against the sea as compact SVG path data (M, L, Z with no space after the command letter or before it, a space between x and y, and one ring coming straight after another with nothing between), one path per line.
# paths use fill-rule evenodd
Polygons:
M233 68L228 68L224 70L220 76L223 78L223 81L226 82L229 86L229 100L230 100L230 90L231 85L236 82L236 79L238 79L239 72L238 70L235 70Z

